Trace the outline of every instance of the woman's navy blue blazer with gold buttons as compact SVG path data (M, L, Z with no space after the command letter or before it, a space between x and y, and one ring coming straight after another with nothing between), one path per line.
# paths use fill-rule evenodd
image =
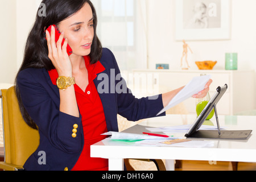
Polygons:
M109 92L106 92L107 87L104 88L104 93L102 90L101 92L98 90L104 107L108 131L118 131L117 114L129 121L138 121L155 117L163 109L161 94L153 99L150 97L138 99L131 94L129 89L126 89L123 78L115 79L115 81L110 79L110 76L115 78L120 71L117 61L109 49L103 48L100 63L105 67L105 71L102 73L109 77L107 82ZM96 88L102 84L102 81L106 81L102 73L99 73L98 77L94 79ZM52 84L46 69L24 69L19 73L17 80L23 105L38 125L40 134L39 147L27 159L24 168L43 171L72 169L84 146L81 117L77 118L60 112L59 89ZM123 85L122 91L125 89L127 92L118 92L117 90L113 92L113 86L115 88L117 84ZM78 126L77 137L73 138L72 130L75 124ZM45 154L46 157L46 163L43 164L42 154Z

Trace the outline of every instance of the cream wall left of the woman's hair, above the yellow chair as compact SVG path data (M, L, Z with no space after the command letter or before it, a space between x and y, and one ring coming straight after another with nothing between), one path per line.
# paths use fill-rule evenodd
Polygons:
M0 5L0 82L14 84L38 1L0 0Z

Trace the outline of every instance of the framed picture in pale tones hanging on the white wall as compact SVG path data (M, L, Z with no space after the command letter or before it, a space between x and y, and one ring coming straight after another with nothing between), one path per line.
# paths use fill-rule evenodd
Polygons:
M230 0L176 0L176 40L230 39Z

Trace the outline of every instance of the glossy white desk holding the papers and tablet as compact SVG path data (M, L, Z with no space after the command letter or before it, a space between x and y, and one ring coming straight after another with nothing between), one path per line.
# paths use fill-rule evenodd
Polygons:
M140 125L150 127L188 125L195 119L195 115L167 115L147 119ZM216 126L215 118L211 121ZM156 147L105 139L91 146L91 156L109 159L110 171L123 170L123 159L166 159L168 170L174 170L174 160L256 162L256 135L254 135L256 116L219 115L219 121L221 127L226 127L228 130L253 130L253 133L247 140L211 140L214 146L209 148ZM183 137L184 133L174 135Z

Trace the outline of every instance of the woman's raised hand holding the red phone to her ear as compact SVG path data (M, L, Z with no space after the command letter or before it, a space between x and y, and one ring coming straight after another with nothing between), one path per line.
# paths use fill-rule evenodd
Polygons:
M64 44L61 47L61 43L64 39L64 32L61 32L60 38L56 43L55 28L51 26L51 35L46 30L46 39L49 51L48 57L59 73L59 76L72 77L72 64L67 53L68 39L65 39Z

